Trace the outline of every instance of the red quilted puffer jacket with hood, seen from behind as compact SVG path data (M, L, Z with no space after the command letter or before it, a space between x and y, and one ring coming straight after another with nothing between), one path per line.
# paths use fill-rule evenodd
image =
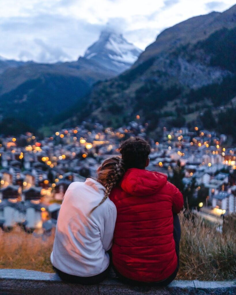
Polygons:
M109 198L117 208L112 246L115 268L141 282L158 282L176 269L173 213L183 207L180 191L160 172L128 169Z

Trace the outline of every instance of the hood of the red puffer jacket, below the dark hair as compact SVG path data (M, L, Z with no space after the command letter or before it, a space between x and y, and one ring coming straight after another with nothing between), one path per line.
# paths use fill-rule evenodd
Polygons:
M124 174L121 188L134 196L155 194L167 182L167 176L160 172L130 168Z

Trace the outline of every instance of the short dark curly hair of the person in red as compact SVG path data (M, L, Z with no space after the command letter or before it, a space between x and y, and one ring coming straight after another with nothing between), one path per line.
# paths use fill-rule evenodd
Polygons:
M144 169L150 151L148 142L140 137L130 137L121 142L120 146L120 153L126 169Z

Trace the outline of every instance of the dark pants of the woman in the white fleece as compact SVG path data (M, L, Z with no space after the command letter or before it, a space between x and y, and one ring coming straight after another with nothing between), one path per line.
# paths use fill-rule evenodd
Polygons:
M110 269L110 267L108 266L108 268L105 271L103 271L102 273L99 273L96 276L80 277L80 276L69 275L68 273L63 273L63 271L60 271L54 266L53 268L63 281L66 281L68 283L77 283L81 285L94 285L94 284L101 283L107 277L109 273L109 269Z

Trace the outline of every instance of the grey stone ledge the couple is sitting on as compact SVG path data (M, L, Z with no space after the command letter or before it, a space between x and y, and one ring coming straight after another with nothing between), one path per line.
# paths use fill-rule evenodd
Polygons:
M173 281L165 288L129 286L115 279L98 285L65 283L55 273L0 269L0 295L235 295L236 281Z

